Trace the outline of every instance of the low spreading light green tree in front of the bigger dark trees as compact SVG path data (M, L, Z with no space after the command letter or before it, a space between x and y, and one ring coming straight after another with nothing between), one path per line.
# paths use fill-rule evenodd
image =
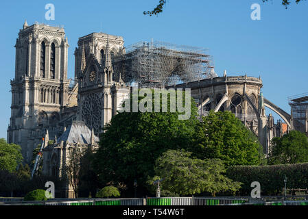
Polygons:
M180 196L201 192L215 196L217 192L239 190L240 183L224 177L224 172L219 159L196 159L191 158L191 152L169 150L156 160L156 176L148 183L162 179L162 191Z

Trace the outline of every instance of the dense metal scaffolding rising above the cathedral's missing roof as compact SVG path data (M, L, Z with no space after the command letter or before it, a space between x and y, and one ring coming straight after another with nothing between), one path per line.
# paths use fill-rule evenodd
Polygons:
M163 88L217 77L206 49L166 42L137 42L113 58L112 66L126 83Z

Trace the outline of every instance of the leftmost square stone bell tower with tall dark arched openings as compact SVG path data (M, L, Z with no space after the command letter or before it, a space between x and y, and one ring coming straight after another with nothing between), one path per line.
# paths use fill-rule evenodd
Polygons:
M25 162L45 133L45 127L60 120L67 104L67 49L62 27L27 25L16 40L15 77L12 87L8 142L21 145Z

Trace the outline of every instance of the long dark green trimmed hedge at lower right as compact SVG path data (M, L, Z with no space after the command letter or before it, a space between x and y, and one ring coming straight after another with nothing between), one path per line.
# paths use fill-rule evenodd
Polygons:
M282 164L273 166L233 166L226 171L226 177L243 183L241 195L250 196L250 184L258 181L261 195L279 195L283 192L287 176L287 188L308 188L308 163Z

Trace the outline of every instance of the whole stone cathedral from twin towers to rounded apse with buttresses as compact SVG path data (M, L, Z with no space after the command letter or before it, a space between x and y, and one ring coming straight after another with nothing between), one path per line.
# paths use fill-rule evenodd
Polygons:
M158 51L153 45L152 48ZM50 153L56 153L58 157L60 152L56 151L64 150L66 146L97 146L97 136L102 128L117 114L121 103L130 94L130 71L138 68L122 68L123 66L115 65L114 61L116 57L128 54L123 63L129 64L136 59L136 51L128 51L121 36L92 33L80 37L74 53L74 79L68 79L69 43L62 27L39 23L29 26L25 22L19 31L15 48L15 76L10 81L12 105L8 142L21 145L24 162L32 159L32 151L41 143L43 137L53 140L53 150L50 147L48 150ZM145 51L149 51L151 46L141 44L138 48L143 51L139 53L139 60L137 59L137 63L141 64L140 58L145 57ZM166 47L160 47L159 51L173 54L168 63L179 64L172 66L172 69L178 69L180 73L189 72L188 68L182 67L190 62L189 58L183 55L188 54L187 52L180 53ZM162 58L166 55L161 55L158 59L159 55L156 53L154 56L154 60L158 60L154 64L161 62L156 68L166 70ZM197 53L193 55L198 55L198 60L201 60L199 57L208 57ZM169 62L170 60L172 62ZM206 60L202 63L206 63ZM194 77L193 81L174 86L169 84L165 88L190 88L201 115L206 115L209 110L233 112L259 137L265 155L268 154L270 140L288 131L292 127L292 118L263 97L260 77L228 77L226 72L222 77L218 77L213 68L209 69L209 77ZM182 81L185 81L186 76L180 75ZM150 77L151 75L142 76L142 81L149 86L155 82ZM265 115L265 106L275 110L284 118L285 123L279 121L274 124L272 115ZM72 132L68 132L68 129ZM92 137L89 136L90 133ZM68 140L65 137L67 135L75 135L73 139L80 142ZM88 136L86 141L82 140L84 136ZM53 155L49 155L50 159L51 157ZM47 163L46 166L51 168ZM52 172L50 168L46 170L49 173Z

